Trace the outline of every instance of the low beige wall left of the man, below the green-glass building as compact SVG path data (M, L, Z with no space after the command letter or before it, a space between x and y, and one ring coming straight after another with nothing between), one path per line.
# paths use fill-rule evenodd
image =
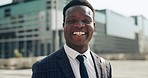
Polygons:
M0 69L24 69L31 68L33 63L37 60L44 58L41 57L29 57L29 58L9 58L0 59Z

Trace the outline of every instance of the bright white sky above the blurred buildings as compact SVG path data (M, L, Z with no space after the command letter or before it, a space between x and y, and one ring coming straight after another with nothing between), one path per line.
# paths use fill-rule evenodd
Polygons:
M109 9L123 16L143 15L148 19L147 0L89 0L98 10ZM0 5L12 0L0 0Z

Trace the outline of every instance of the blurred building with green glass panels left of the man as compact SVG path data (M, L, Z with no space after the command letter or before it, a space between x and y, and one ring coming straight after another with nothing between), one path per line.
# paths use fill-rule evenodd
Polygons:
M43 56L61 46L61 37L60 41L55 41L54 37L57 26L62 27L61 6L65 2L14 0L11 4L0 6L0 58L14 57L15 51L24 57ZM60 32L58 35L62 35ZM55 42L61 45L55 46Z

